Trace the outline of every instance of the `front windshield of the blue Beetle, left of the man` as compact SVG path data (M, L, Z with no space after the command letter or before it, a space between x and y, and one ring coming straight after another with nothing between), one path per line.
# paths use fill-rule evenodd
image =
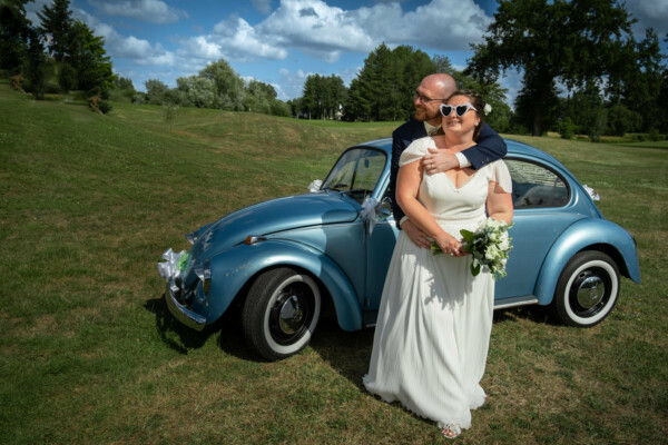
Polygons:
M382 151L352 148L338 158L322 189L341 191L362 202L373 194L385 168L385 160Z

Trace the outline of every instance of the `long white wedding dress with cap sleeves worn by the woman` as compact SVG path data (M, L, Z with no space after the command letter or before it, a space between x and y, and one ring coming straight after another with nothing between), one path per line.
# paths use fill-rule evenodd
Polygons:
M400 166L419 161L431 138L411 144ZM456 188L445 174L424 175L419 199L441 227L460 239L487 218L489 182L511 191L508 168L499 160L479 169ZM481 406L480 386L487 362L494 281L473 277L471 256L434 256L400 231L387 270L366 389L385 402L401 402L440 427L471 426L471 409Z

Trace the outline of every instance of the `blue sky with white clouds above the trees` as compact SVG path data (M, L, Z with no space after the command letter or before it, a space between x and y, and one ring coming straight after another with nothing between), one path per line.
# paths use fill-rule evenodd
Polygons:
M28 18L50 0L28 3ZM627 0L637 38L668 32L668 0ZM169 87L225 59L244 79L274 86L282 100L302 95L308 75L337 75L346 85L385 42L446 56L463 68L481 42L495 0L72 0L72 16L105 38L115 71L136 89L159 79ZM502 80L512 101L518 76Z

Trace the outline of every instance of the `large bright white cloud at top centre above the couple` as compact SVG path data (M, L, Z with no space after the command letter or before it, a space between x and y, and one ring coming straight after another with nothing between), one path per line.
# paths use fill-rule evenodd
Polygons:
M370 52L382 42L469 50L490 22L473 0L432 0L409 12L399 2L344 10L322 0L282 0L254 31L263 40L333 62L344 51Z

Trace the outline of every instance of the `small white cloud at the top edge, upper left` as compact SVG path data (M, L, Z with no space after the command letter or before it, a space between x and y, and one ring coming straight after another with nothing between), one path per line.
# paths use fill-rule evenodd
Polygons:
M129 17L150 23L174 23L181 17L188 17L185 11L160 0L88 0L88 3L108 16Z

